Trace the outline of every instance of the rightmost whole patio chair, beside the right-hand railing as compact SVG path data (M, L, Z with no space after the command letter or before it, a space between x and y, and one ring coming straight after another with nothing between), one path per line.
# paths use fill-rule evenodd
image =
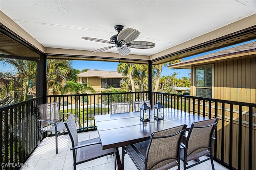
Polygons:
M188 136L184 136L181 143L180 159L184 162L184 170L191 168L197 164L211 160L212 169L214 170L212 160L212 137L219 118L208 119L192 123ZM204 160L199 160L202 156L208 156ZM196 163L188 165L188 162L194 160Z

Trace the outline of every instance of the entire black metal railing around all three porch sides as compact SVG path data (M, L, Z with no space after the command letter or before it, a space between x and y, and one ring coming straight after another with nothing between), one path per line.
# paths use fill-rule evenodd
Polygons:
M164 107L172 107L203 117L219 117L214 132L214 160L229 169L256 169L256 104L168 93L129 92L80 95L51 95L47 103L58 101L61 112L76 114L79 132L96 130L94 115L110 114L110 103L148 100L151 105L160 101ZM1 162L24 163L37 146L38 128L36 98L0 108ZM151 107L152 107L151 106Z

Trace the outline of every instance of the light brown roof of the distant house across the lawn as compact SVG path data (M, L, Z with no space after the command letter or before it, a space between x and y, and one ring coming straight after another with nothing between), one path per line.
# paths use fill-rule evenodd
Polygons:
M100 78L122 78L125 77L122 73L118 73L117 71L102 71L102 70L88 70L83 73L79 73L78 77L100 77Z

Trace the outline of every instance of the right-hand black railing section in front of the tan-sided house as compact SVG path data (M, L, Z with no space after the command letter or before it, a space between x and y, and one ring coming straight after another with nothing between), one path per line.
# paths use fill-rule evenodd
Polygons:
M152 103L160 101L203 117L219 117L215 130L214 158L229 169L256 169L256 104L168 93L152 93Z

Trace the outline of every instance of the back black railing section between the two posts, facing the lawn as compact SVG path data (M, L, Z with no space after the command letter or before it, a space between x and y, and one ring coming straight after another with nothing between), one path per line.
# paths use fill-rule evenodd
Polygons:
M110 114L111 102L128 101L131 105L131 111L134 111L132 102L138 100L148 100L148 92L47 96L48 103L53 101L59 102L60 112L76 115L79 123L79 132L96 130L94 115Z

